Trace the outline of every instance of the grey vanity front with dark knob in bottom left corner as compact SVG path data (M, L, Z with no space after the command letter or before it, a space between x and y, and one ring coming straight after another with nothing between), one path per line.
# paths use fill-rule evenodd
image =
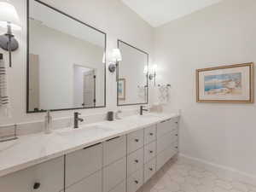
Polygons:
M64 157L0 177L2 192L59 192L64 189ZM35 189L38 188L38 189Z

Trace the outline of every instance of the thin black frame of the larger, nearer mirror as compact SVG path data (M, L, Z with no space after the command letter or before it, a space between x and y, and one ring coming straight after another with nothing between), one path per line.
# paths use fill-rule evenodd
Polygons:
M46 110L40 110L40 111L30 111L29 110L29 1L30 0L26 0L26 113L43 113L46 112ZM88 26L94 30L96 30L97 32L101 32L104 36L105 36L105 49L104 49L104 53L106 53L107 50L107 33L106 32L102 32L101 30L97 29L94 26L90 26L89 24L84 23L82 20L76 19L75 17L68 15L64 12L62 12L59 9L55 9L54 7L50 6L47 3L44 3L40 0L33 0L37 3L41 3L42 5L48 7L49 9L52 9L56 12L58 12L61 15L64 15L72 20L75 20L77 22L79 22L80 24L83 24L84 26ZM104 105L103 106L96 106L96 107L90 107L90 108L106 108L106 57L105 57L105 65L104 65ZM76 109L88 109L88 108L59 108L59 109L50 109L50 111L67 111L67 110L76 110Z

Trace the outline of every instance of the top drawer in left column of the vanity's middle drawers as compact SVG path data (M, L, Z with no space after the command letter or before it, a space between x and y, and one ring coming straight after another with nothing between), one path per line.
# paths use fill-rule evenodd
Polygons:
M127 135L127 152L130 154L138 148L142 148L144 144L144 131L134 131Z

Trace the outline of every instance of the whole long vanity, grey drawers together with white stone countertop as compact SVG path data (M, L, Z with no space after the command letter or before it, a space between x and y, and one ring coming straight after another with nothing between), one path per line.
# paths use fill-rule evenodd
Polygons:
M136 192L177 154L178 119L134 115L0 144L0 189Z

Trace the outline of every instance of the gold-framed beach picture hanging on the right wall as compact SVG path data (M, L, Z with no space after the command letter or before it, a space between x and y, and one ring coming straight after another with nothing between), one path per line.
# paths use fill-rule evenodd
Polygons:
M197 69L196 102L253 103L253 63Z

